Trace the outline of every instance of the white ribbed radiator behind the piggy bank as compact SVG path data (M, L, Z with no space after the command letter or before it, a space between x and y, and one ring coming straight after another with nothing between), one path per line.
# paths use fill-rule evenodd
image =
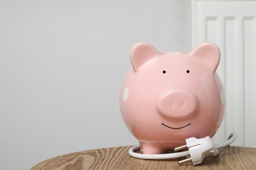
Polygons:
M256 147L256 1L192 1L192 47L201 42L222 54L226 110L215 142L236 131L233 145Z

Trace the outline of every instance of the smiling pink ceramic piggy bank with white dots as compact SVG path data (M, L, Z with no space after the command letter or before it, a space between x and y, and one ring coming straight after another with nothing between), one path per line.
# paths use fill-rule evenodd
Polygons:
M158 52L144 42L133 46L119 104L143 154L215 135L224 114L223 86L215 73L219 60L219 48L211 43L191 52Z

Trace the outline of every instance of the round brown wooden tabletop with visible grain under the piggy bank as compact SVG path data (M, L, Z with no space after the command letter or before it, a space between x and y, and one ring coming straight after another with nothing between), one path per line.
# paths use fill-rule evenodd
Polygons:
M45 160L35 169L256 169L256 148L226 146L219 156L209 157L202 164L178 164L177 160L140 160L129 156L131 146L75 152ZM184 158L179 158L182 160Z

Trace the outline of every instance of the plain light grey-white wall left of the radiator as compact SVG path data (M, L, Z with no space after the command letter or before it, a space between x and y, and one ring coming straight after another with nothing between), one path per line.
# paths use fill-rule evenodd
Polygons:
M137 144L119 112L135 42L190 50L186 0L0 1L0 169Z

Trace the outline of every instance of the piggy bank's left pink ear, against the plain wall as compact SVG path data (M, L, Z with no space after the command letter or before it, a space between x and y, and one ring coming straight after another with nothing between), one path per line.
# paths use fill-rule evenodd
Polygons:
M150 44L139 42L131 48L131 64L135 72L146 63L146 61L160 56L160 52Z

